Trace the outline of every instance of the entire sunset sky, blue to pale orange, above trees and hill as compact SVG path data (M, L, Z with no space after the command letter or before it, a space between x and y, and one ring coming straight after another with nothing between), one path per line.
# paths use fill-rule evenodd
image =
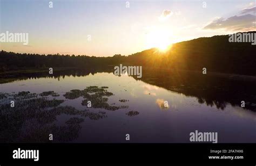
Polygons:
M18 53L130 55L199 37L256 30L255 1L0 0L0 33L29 33ZM206 2L206 8L204 3ZM91 35L91 40L87 40Z

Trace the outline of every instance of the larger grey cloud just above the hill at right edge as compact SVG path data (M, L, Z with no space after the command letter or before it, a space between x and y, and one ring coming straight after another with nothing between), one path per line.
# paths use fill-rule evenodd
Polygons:
M213 20L210 24L205 26L204 30L217 30L225 29L228 31L248 31L255 30L255 20L256 16L247 14L242 16L233 16L227 19L217 18Z

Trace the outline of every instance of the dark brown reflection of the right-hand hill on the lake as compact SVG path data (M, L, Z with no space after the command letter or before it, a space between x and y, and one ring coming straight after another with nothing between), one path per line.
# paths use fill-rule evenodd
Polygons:
M137 79L134 77L134 79ZM208 75L189 71L145 70L142 81L198 98L200 104L216 106L224 110L228 104L240 106L246 102L246 109L256 111L256 86L254 80L234 80L230 76ZM149 92L149 90L145 91Z

